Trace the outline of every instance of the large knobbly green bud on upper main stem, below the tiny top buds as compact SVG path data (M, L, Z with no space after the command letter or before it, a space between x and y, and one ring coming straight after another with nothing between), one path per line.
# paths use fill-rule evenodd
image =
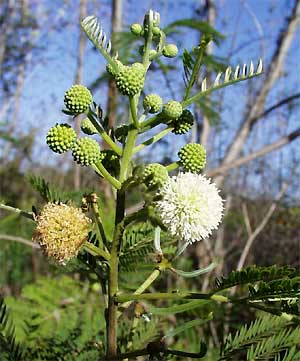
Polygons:
M131 67L124 66L116 75L117 88L123 95L134 96L143 89L144 77L143 64L135 63Z

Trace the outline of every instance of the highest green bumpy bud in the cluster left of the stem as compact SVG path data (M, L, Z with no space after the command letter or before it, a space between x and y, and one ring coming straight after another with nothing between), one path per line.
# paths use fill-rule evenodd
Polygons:
M83 85L73 85L65 92L65 105L73 114L84 113L92 101L93 97L91 92Z

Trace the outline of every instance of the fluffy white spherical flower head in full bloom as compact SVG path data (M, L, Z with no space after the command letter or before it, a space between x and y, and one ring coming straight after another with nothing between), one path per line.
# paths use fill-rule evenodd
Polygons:
M186 243L207 238L223 215L216 185L200 174L179 173L160 189L156 210L169 232Z

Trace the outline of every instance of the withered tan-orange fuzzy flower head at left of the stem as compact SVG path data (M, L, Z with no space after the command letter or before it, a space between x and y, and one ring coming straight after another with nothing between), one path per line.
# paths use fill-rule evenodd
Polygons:
M47 203L36 221L33 240L58 263L66 263L77 256L88 238L92 222L80 208L56 203Z

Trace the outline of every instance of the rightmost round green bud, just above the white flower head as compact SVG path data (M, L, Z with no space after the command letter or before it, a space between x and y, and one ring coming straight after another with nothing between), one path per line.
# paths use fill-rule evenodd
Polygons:
M200 173L205 167L206 150L201 144L189 143L180 149L178 157L185 171Z

